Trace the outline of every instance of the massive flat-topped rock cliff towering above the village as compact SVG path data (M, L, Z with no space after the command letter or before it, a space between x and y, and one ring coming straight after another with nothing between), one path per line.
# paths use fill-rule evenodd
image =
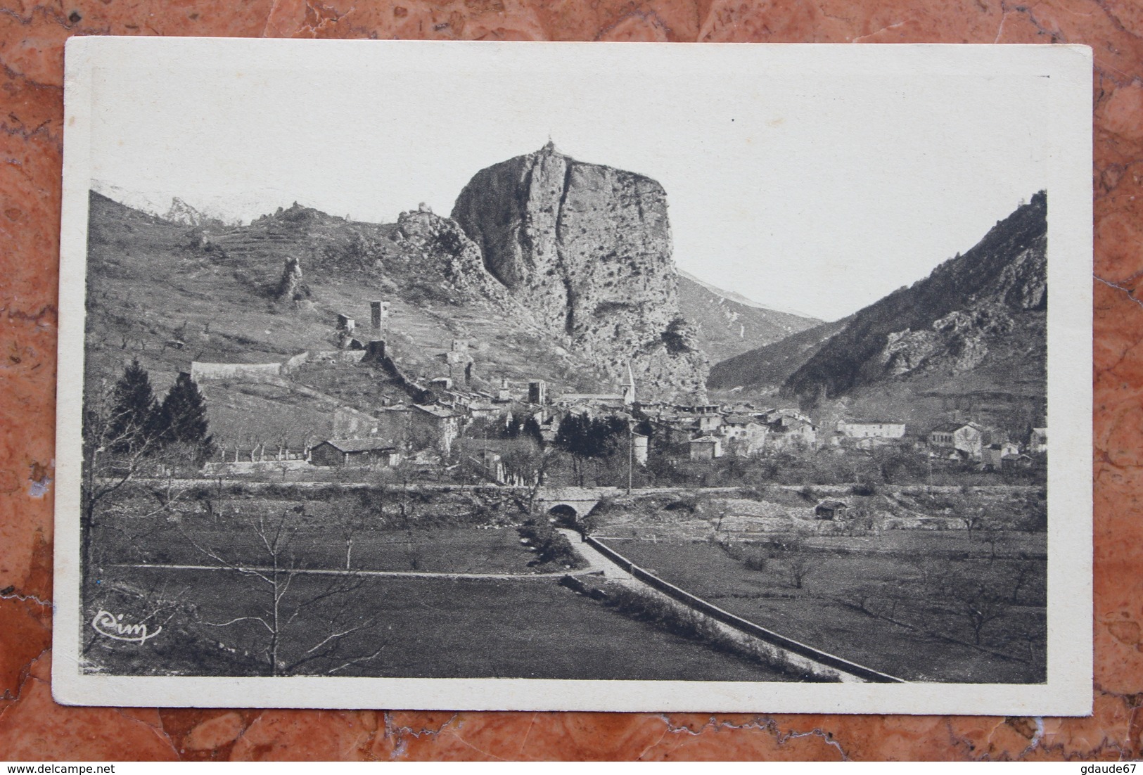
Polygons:
M678 336L666 194L655 181L584 163L549 143L480 170L453 219L536 322L641 397L702 393L703 353Z

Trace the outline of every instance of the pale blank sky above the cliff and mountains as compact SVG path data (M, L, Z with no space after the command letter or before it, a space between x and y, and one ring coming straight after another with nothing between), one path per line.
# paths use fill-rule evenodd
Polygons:
M160 213L391 222L551 138L663 185L679 267L834 320L1047 186L1041 48L139 41L96 67L89 174Z

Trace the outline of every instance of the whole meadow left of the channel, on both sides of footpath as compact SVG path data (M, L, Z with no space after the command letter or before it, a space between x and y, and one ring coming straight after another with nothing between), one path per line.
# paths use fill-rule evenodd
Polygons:
M502 493L291 493L141 487L104 513L85 606L86 669L789 680L561 586L563 560L538 562L518 529L526 516ZM160 495L174 505L157 509ZM217 569L139 567L149 565ZM422 575L360 575L373 572ZM144 644L114 641L91 625L99 610L162 630ZM347 634L325 642L334 632Z

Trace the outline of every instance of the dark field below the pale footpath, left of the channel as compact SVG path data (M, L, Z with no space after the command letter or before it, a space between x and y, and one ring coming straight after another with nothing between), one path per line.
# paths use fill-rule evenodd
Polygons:
M238 617L264 616L269 593L234 572L138 570L104 581L102 605L165 630L139 646L85 633L88 669L117 674L265 674L269 632ZM318 594L323 580L299 577L290 594ZM309 606L281 632L281 663L304 658L328 632L328 608ZM289 610L290 606L283 606ZM346 621L376 618L336 654L299 666L336 676L566 678L629 680L789 680L693 640L633 622L559 586L554 578L366 578ZM349 664L378 652L376 658Z

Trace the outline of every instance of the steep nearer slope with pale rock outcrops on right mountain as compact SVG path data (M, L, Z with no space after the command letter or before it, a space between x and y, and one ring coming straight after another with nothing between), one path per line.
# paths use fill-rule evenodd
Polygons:
M965 255L856 312L784 383L804 400L909 381L927 390L1042 393L1047 194Z

